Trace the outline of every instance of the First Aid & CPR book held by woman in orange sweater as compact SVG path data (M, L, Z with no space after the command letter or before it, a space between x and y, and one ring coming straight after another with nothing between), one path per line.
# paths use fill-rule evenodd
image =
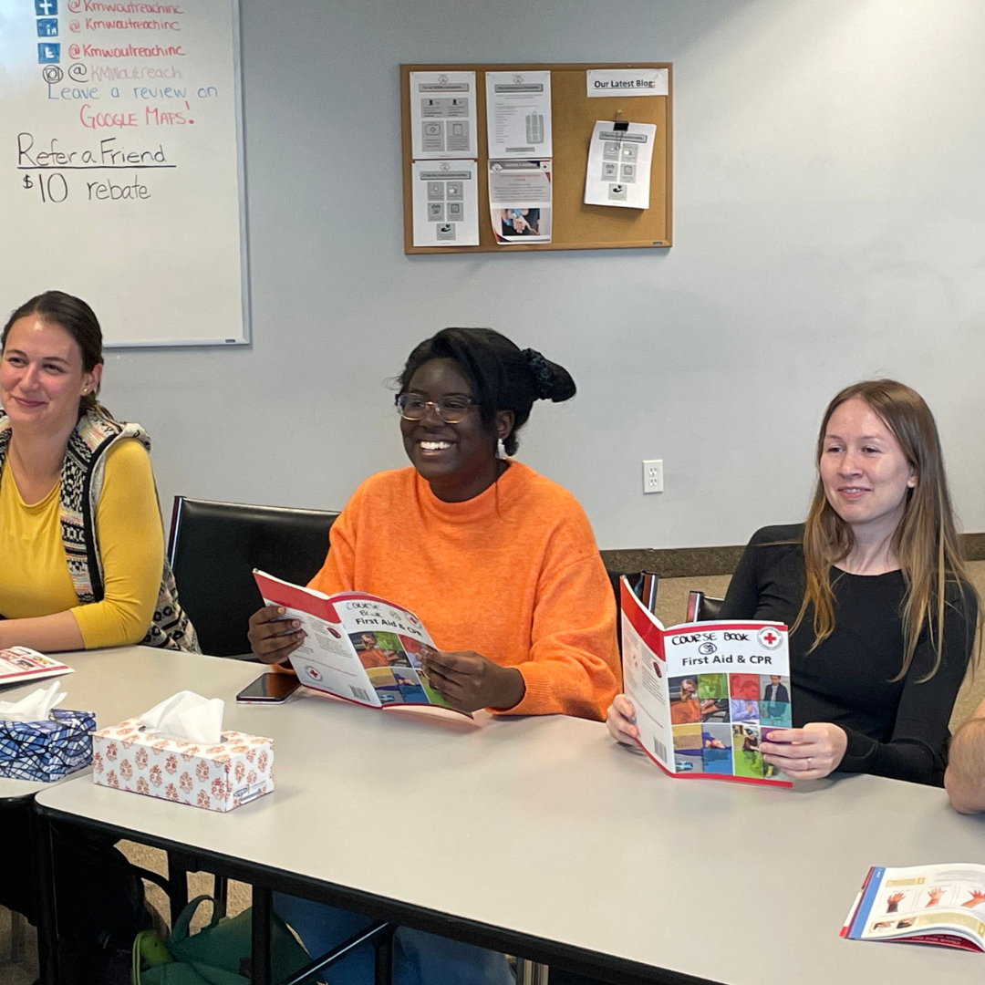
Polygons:
M421 649L436 647L414 613L365 592L325 595L256 569L253 577L264 603L283 606L307 633L291 654L301 684L373 708L458 710L427 680Z

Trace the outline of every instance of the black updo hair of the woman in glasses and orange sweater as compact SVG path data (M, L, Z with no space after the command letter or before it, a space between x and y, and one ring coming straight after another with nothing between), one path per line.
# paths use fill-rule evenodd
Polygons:
M516 432L527 423L535 400L558 404L576 392L571 374L536 349L521 350L492 328L442 328L411 353L398 377L401 393L431 360L459 364L479 405L480 420L490 431L497 411L513 412L513 428L502 439L507 455L516 453Z

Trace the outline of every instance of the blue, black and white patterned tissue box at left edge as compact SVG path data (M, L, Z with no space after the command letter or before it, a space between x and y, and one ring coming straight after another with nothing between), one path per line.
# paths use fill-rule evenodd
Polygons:
M0 720L0 776L13 780L60 780L93 760L91 711L55 708L40 722Z

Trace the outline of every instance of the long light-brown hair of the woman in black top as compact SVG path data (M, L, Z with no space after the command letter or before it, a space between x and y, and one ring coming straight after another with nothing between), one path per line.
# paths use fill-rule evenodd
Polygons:
M801 624L808 609L813 607L815 639L812 650L834 629L831 566L848 557L855 546L855 536L851 526L838 516L824 495L820 465L824 434L831 415L843 403L855 399L864 400L892 431L916 476L916 486L906 493L903 516L890 544L906 584L900 613L903 666L893 680L900 680L910 669L913 652L925 625L934 649L934 666L927 674L927 678L931 678L941 666L948 583L957 585L962 599L967 592L974 593L976 598L977 593L968 581L961 555L934 415L916 390L894 379L866 380L846 386L824 412L816 459L818 486L804 525L807 584L793 628Z

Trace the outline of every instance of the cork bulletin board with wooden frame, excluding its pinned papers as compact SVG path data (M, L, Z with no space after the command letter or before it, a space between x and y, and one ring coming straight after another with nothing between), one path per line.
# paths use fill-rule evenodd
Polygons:
M589 69L666 68L667 96L614 96L589 98L585 73ZM499 244L489 218L486 139L486 73L551 72L554 127L554 230L549 243ZM476 129L478 131L479 245L415 246L412 203L411 73L475 72ZM507 253L517 250L616 249L666 247L671 239L671 141L674 99L673 66L668 62L616 62L543 65L401 65L400 99L403 121L404 252ZM630 123L655 123L656 146L650 172L650 207L614 209L585 205L585 167L596 120L622 118Z

